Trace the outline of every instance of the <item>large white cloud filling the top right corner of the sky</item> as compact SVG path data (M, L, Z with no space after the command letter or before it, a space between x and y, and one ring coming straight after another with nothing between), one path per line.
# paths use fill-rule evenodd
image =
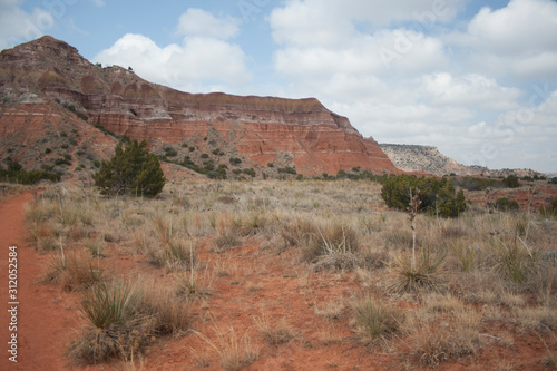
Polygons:
M467 51L470 70L518 80L555 78L557 2L511 0L498 10L483 8L444 41Z

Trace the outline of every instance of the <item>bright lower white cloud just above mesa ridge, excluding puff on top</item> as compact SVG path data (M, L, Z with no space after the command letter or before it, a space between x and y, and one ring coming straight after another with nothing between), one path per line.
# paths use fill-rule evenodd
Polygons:
M182 45L159 47L145 36L127 33L94 60L131 66L147 80L195 91L248 82L245 58L238 46L223 40L189 37Z

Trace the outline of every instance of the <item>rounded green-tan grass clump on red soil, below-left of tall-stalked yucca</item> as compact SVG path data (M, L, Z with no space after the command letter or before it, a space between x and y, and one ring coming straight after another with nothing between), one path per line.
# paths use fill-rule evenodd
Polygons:
M368 295L354 300L351 306L356 332L365 344L385 342L402 329L403 312L381 300Z

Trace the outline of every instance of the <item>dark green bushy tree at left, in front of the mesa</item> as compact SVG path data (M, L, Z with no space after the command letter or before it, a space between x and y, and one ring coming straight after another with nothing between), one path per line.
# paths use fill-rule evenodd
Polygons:
M123 148L118 143L110 160L102 162L94 174L95 185L104 195L134 194L155 196L166 183L160 163L147 149L147 141L133 140Z

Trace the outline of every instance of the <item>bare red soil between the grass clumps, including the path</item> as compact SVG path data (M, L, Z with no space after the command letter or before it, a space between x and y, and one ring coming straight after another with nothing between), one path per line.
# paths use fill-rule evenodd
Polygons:
M48 255L26 247L23 206L31 194L14 196L0 204L0 302L7 306L8 246L18 246L18 363L8 361L4 349L0 357L0 370L68 370L72 369L63 357L68 341L76 336L81 325L78 294L65 293L59 287L38 285ZM260 349L258 359L246 370L426 370L413 367L405 352L404 339L395 341L394 352L381 349L369 351L350 330L350 310L345 305L336 320L324 320L315 314L315 307L343 297L348 304L359 292L355 274L306 274L293 251L280 256L273 250L262 250L256 240L247 240L245 247L224 254L207 252L206 241L199 252L199 261L222 267L227 274L213 270L212 295L194 307L193 329L216 341L214 326L226 330L234 326L238 336L247 334L252 344ZM158 285L172 284L172 276L164 270L148 265L145 257L123 253L116 246L107 248L105 266L117 274L153 276ZM409 304L413 305L413 304ZM1 343L7 348L9 339L7 311L0 311ZM295 336L285 344L268 345L254 323L255 316L267 315L273 323L285 318ZM512 329L492 326L486 334L510 336L514 346L502 346L491 338L473 358L442 363L439 370L492 370L512 365L514 370L544 370L539 360L547 349L539 338L517 335ZM320 340L320 333L333 333L333 344ZM195 351L194 351L195 350ZM137 370L193 370L199 355L207 365L204 370L221 370L221 360L199 336L190 333L179 339L157 340L147 351L145 360L136 362ZM114 361L82 370L121 370L124 364ZM128 364L128 367L130 367ZM508 369L508 368L506 368Z

